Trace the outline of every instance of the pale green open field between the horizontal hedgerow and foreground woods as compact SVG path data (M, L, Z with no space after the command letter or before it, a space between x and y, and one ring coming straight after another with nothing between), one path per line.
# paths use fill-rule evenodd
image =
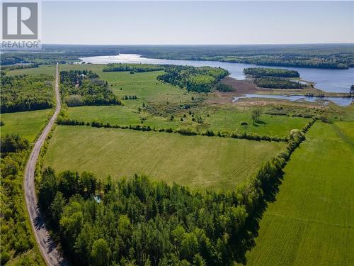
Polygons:
M234 189L273 157L284 143L183 136L89 126L57 126L45 166L90 171L97 177L177 182L193 189Z

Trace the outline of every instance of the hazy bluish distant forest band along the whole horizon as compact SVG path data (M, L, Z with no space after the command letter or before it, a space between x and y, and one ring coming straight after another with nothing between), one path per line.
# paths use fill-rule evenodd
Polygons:
M1 65L55 64L79 57L134 53L149 58L213 60L281 67L354 67L353 44L320 45L43 45L41 52L6 52Z

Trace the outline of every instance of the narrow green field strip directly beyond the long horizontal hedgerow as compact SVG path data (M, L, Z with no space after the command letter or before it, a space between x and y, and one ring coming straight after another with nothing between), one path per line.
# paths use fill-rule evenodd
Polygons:
M68 109L68 115L71 119L85 122L110 123L111 125L129 126L143 124L156 128L181 128L189 127L195 131L212 130L228 131L230 133L237 131L240 133L256 133L258 135L271 135L286 137L294 129L301 129L309 119L289 116L271 116L261 115L261 123L253 124L251 120L251 110L240 111L235 106L219 109L196 108L193 109L193 117L200 116L203 123L192 121L193 117L188 111L178 111L173 113L175 118L170 120L170 116L154 116L146 111L138 112L127 106L80 106ZM183 121L181 121L181 118ZM246 122L246 127L241 126L241 122Z

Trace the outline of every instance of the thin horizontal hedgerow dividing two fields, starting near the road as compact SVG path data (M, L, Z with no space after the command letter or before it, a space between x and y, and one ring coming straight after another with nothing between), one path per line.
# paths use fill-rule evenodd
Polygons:
M110 123L101 123L101 122L84 122L76 119L69 119L64 116L58 116L57 124L62 126L92 126L93 128L120 128L120 129L131 129L134 131L155 131L155 132L167 132L167 133L178 133L181 135L205 135L208 137L220 137L220 138L240 138L246 140L266 140L266 141L276 141L276 142L287 142L287 138L280 138L277 136L269 135L257 135L254 133L229 133L227 131L217 131L212 130L207 131L194 131L192 128L156 128L145 125L130 125L130 126L120 126L120 125L111 125Z

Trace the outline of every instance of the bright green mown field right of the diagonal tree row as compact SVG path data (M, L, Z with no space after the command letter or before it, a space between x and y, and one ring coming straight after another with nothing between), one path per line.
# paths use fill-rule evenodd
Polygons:
M350 138L352 122L318 122L310 129L261 219L248 265L354 265Z

